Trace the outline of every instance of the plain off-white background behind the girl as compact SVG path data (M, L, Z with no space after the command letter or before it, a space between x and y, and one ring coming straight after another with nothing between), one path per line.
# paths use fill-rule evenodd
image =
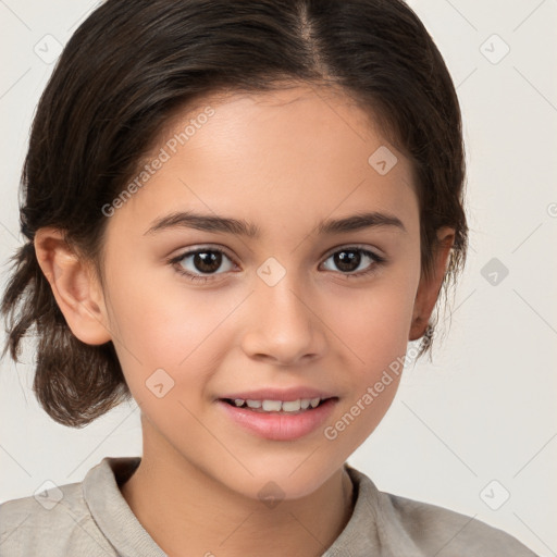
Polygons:
M461 101L470 256L433 364L408 367L387 416L349 462L382 491L467 513L556 555L557 1L409 3ZM21 243L17 185L29 126L53 67L35 50L55 57L55 41L65 45L96 5L0 0L2 286ZM493 258L508 269L503 280L500 270L488 276ZM0 502L46 480L78 482L104 456L141 453L135 404L83 430L53 422L30 389L33 359L28 348L23 363L1 362ZM497 510L486 504L498 506L507 492Z

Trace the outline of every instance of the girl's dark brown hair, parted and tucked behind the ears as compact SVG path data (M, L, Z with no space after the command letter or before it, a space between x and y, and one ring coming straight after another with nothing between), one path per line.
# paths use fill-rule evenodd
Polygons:
M412 163L422 273L448 225L456 238L443 286L455 278L468 239L460 109L442 55L401 0L108 0L71 37L38 103L22 172L27 242L11 258L1 305L2 356L17 361L35 327L34 392L57 422L82 428L131 393L112 342L89 346L69 329L38 265L36 231L64 231L102 283L101 208L171 117L210 94L287 83L336 86L372 114Z

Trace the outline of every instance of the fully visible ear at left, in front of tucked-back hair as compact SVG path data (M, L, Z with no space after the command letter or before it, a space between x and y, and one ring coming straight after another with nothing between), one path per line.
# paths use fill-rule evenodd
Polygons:
M111 341L102 290L90 263L72 250L62 231L39 228L34 244L40 269L72 333L89 345Z

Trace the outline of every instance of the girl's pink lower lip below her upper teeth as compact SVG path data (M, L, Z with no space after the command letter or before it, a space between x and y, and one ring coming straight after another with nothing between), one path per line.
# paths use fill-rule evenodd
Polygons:
M247 408L232 406L218 400L219 406L246 430L272 441L293 441L317 430L331 416L337 398L330 398L322 405L300 413L255 412Z

